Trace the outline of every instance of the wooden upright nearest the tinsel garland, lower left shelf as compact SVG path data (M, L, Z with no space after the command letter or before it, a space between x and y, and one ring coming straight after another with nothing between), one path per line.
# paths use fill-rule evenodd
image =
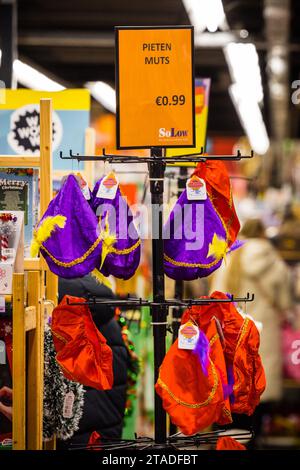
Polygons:
M28 334L27 362L27 449L43 447L44 315L41 309L42 273L28 273L28 305L36 309L36 327Z

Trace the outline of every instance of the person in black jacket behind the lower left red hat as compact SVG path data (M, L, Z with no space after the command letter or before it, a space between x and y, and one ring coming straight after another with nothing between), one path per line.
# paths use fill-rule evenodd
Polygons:
M113 292L98 284L90 275L78 279L59 279L59 301L64 295L88 298L97 296L113 299ZM127 368L129 356L122 339L121 328L114 319L114 308L106 305L90 307L95 325L113 351L114 385L111 390L99 391L85 387L83 416L79 430L68 441L58 442L58 448L86 446L96 431L104 438L121 438L126 406Z

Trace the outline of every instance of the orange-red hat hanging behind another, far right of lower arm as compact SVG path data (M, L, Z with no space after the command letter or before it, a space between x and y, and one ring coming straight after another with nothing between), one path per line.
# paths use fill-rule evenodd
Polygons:
M222 292L213 292L211 297L228 298ZM244 319L239 314L233 302L193 306L184 312L182 323L193 318L205 331L213 317L222 326L226 367L233 374L231 412L251 415L266 386L259 356L259 332L249 317Z

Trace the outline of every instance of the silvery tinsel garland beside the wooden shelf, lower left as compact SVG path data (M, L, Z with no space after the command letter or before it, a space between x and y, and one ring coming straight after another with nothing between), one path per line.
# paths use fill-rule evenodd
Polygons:
M66 379L55 360L55 349L52 333L47 325L45 328L44 353L44 418L43 438L50 440L54 434L59 439L70 439L79 429L79 422L83 413L84 388L77 382ZM72 416L63 416L66 395L74 394Z

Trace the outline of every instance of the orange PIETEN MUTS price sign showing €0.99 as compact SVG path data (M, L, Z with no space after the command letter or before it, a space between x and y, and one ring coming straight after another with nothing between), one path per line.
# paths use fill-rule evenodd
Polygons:
M194 147L193 28L117 27L117 147Z

